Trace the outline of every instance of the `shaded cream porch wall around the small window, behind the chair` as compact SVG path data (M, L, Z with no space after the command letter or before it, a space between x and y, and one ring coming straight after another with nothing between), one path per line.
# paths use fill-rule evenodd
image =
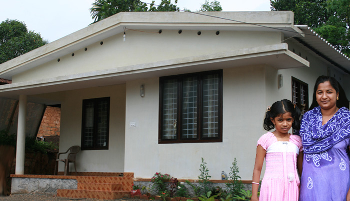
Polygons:
M82 150L76 156L78 172L124 172L125 85L66 91L61 103L59 151L81 145L82 100L110 97L108 150ZM63 171L63 163L59 171ZM70 171L74 167L69 166Z

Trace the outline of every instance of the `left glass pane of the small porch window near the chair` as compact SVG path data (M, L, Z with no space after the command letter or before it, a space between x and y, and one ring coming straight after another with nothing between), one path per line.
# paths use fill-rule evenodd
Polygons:
M84 147L93 146L93 102L85 105Z

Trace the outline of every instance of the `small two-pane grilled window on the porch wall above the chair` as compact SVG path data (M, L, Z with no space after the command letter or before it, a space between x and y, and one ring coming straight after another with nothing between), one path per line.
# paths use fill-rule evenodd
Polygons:
M81 149L108 149L109 97L82 100Z

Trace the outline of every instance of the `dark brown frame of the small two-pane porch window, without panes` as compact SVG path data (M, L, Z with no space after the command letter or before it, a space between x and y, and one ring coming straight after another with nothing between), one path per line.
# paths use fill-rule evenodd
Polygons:
M98 132L98 108L97 105L101 101L107 101L107 109L106 109L106 145L105 146L97 146L97 132ZM84 131L85 131L85 110L87 103L93 103L93 134L92 134L92 146L84 146ZM107 150L108 149L108 141L109 141L109 109L110 109L110 98L109 97L103 97L103 98L92 98L92 99L84 99L82 100L82 120L81 120L81 150Z

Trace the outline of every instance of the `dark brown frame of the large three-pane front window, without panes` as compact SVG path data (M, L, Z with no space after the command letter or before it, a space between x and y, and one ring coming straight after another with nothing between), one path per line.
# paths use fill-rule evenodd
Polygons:
M203 137L202 129L203 129L203 76L205 75L218 75L218 109L217 109L217 120L218 120L218 128L217 128L217 137ZM197 80L197 95L196 95L196 138L181 138L181 130L182 130L182 81L184 78L193 77L198 78ZM164 81L175 79L177 82L177 98L176 98L176 138L175 139L163 139L163 130L162 130L162 122L163 122L163 84ZM189 73L189 74L181 74L181 75L172 75L165 76L159 78L159 122L158 122L158 143L159 144L170 144L170 143L212 143L212 142L222 142L222 70L213 70L213 71L204 71L197 73Z

